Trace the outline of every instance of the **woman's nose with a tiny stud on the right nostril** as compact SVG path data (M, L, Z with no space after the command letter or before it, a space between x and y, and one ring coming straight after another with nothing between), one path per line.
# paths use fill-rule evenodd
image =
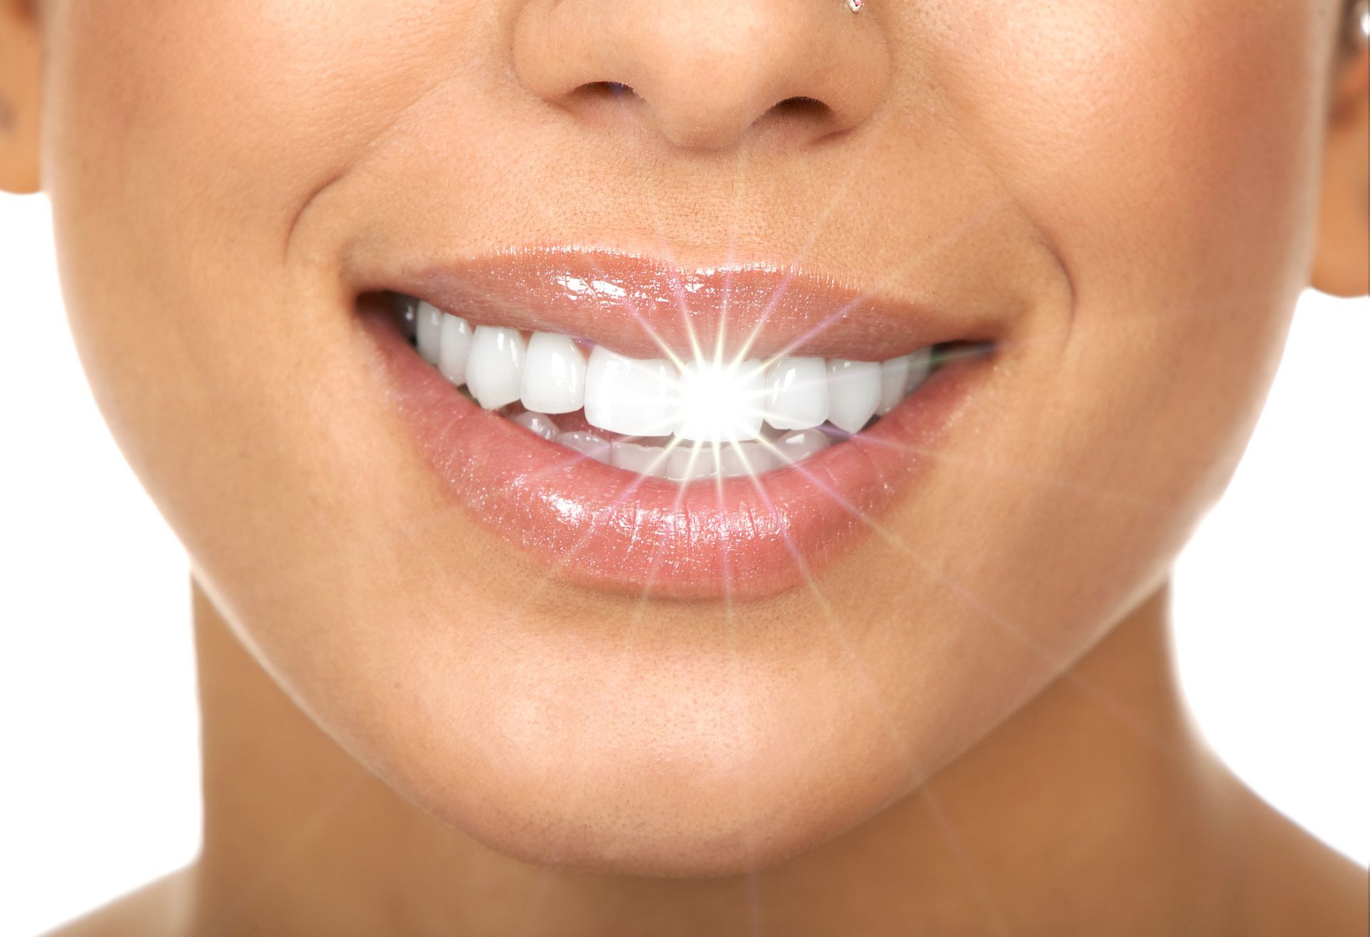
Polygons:
M799 142L856 127L891 71L878 21L844 0L526 0L512 63L551 103L585 116L627 105L697 149L762 125Z

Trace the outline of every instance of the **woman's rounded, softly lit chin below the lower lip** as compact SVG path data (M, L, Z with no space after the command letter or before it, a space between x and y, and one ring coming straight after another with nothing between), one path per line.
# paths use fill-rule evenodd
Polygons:
M867 685L826 655L734 658L649 637L608 655L543 640L482 644L464 666L443 652L373 658L367 692L327 712L330 732L408 801L512 859L701 878L767 869L856 827L973 729L936 707L910 716L891 692L907 741L891 744Z

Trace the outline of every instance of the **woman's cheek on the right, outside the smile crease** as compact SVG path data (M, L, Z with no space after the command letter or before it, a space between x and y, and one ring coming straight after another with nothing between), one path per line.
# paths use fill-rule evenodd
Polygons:
M1037 382L1056 464L1193 510L1230 473L1307 282L1325 27L1289 0L932 23L955 118L1074 290Z

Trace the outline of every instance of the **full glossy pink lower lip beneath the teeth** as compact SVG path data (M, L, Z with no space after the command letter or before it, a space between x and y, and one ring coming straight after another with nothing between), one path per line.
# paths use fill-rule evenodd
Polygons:
M951 360L858 437L755 478L681 486L481 410L386 314L362 312L399 414L456 503L564 579L663 597L758 599L819 575L917 484L986 370L982 356Z

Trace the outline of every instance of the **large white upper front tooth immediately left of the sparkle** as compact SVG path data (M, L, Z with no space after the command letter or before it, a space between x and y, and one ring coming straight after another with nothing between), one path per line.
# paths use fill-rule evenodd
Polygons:
M625 436L667 436L675 427L675 368L596 345L585 368L585 421Z

